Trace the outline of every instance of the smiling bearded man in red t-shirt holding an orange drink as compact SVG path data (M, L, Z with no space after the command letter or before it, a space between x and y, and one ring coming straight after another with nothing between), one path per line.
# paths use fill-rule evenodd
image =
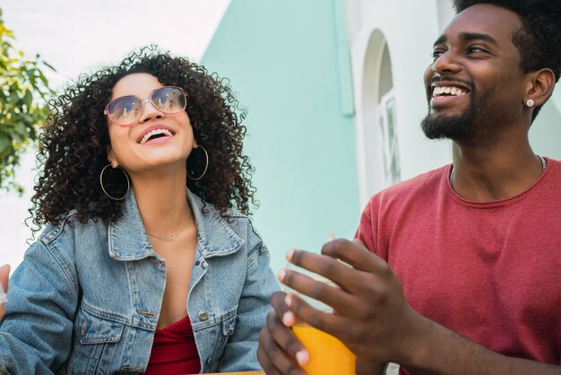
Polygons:
M340 338L359 374L387 362L405 374L561 373L561 163L528 141L559 79L561 2L454 5L425 74L422 123L453 140L453 164L375 195L358 240L288 253L341 289L280 271L337 313L273 294L257 353L268 374L304 373L296 318Z

